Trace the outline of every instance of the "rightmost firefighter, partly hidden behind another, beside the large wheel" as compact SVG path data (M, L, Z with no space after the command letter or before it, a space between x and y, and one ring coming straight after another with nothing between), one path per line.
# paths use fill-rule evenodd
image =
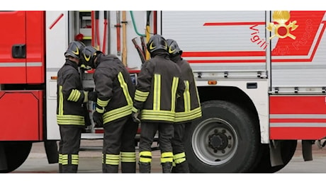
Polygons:
M173 161L172 173L189 173L184 149L185 127L191 120L201 117L201 103L198 96L193 71L189 63L181 57L182 50L175 40L167 39L170 59L178 64L181 77L186 86L184 94L176 100L176 117L174 122L174 137L172 138Z

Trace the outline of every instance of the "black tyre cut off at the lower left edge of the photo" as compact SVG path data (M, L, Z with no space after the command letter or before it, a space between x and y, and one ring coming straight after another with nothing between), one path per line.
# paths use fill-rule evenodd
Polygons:
M30 149L32 149L32 142L2 142L2 146L6 156L7 168L0 170L0 173L9 173L26 161Z

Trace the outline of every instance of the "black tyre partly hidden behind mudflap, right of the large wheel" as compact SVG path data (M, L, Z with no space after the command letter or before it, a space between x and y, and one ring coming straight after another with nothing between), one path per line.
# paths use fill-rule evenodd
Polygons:
M270 154L269 154L269 144L262 144L262 159L257 164L256 168L252 173L276 173L284 168L292 159L294 153L296 152L296 146L298 144L297 140L284 140L278 142L281 146L281 156L283 165L271 166Z

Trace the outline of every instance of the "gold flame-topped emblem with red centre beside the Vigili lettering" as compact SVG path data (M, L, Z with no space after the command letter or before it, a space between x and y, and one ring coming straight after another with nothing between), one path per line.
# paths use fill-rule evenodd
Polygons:
M290 19L290 13L288 11L274 11L273 13L273 19L276 21L277 24L274 23L268 23L266 29L269 31L272 31L274 28L274 34L272 35L269 40L271 40L274 37L278 38L292 38L293 40L296 40L296 36L292 35L290 32L293 30L296 30L299 25L296 25L296 21L288 23L286 25L286 22Z

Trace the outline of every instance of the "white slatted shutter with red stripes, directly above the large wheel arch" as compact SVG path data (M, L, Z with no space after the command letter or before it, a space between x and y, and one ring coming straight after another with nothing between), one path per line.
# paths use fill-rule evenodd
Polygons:
M215 52L213 57L184 56L184 59L189 61L215 60L210 63L191 63L194 71L266 70L266 62L232 62L244 59L266 60L264 55L225 54L225 52L264 52L264 47L252 42L251 39L253 35L259 35L262 42L266 40L266 29L263 24L266 21L265 11L162 11L162 15L159 16L162 16L161 29L164 38L177 40L184 52ZM213 25L207 25L208 23Z

